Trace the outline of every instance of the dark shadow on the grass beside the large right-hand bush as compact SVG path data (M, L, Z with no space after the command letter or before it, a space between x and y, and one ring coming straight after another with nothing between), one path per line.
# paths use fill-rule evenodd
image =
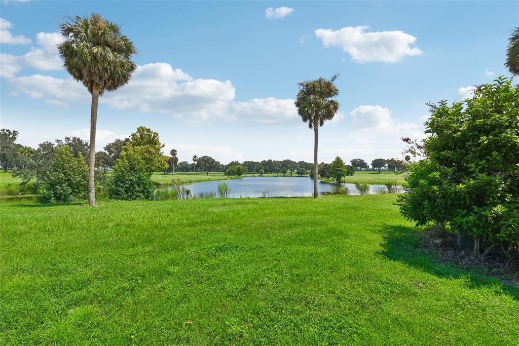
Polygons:
M420 246L422 234L416 228L387 225L383 237L384 250L381 254L388 259L403 262L440 278L469 280L470 288L493 287L496 292L509 294L519 300L519 287L515 285L503 283L480 270L441 263L437 252Z

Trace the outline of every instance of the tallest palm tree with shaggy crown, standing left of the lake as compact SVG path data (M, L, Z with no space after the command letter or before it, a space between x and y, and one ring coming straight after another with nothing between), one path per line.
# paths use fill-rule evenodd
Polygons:
M136 53L133 43L121 34L119 25L98 13L74 17L60 24L64 37L58 46L63 66L92 95L90 108L90 153L88 169L88 204L95 204L95 124L98 101L105 91L127 84L137 65L131 61Z

